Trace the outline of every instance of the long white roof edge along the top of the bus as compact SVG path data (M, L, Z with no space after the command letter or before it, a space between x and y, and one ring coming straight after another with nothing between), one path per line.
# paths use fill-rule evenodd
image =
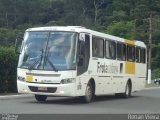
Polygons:
M83 33L89 33L89 34L92 34L94 36L103 37L103 38L118 41L118 42L130 41L130 43L132 42L136 46L141 46L141 47L146 48L146 45L144 44L144 42L137 41L137 40L128 40L128 39L120 38L120 37L117 37L117 36L97 32L97 31L94 31L94 30L91 30L91 29L87 29L87 28L82 27L82 26L35 27L35 28L29 28L26 31L70 31L70 32L78 32L78 33L83 32Z

